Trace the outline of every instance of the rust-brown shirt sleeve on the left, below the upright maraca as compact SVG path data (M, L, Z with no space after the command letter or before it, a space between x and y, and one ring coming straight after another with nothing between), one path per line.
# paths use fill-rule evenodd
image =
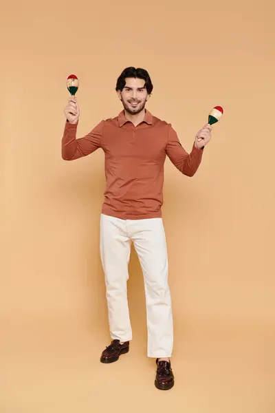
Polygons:
M61 153L64 160L74 160L87 156L96 151L101 145L101 139L104 129L104 120L102 120L89 134L83 138L76 139L76 130L78 123L72 124L66 122L63 138L61 143Z

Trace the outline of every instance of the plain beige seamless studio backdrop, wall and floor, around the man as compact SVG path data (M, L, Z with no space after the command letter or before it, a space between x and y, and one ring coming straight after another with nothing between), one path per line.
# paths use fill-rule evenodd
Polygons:
M1 2L1 413L274 413L273 2ZM116 116L145 67L148 109L189 151L222 105L194 178L166 162L175 388L154 388L133 251L131 352L109 343L99 257L104 156L61 159L66 78L78 137Z

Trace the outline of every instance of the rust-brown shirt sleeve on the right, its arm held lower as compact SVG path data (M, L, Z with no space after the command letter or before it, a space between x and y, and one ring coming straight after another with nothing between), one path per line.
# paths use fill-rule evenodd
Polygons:
M203 149L197 149L195 142L190 153L181 146L177 133L168 125L168 140L166 154L170 161L181 173L186 176L194 176L201 163Z

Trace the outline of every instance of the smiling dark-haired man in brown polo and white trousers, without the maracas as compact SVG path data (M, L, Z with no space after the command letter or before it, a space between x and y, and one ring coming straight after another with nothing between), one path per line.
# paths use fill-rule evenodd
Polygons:
M105 154L107 185L100 216L100 257L104 270L111 343L101 354L102 363L117 361L129 351L132 339L127 301L131 242L142 266L146 295L148 357L156 359L155 386L174 385L170 357L173 316L168 286L168 259L162 222L162 187L166 156L186 176L197 171L203 147L210 140L205 125L195 136L188 154L169 123L145 108L153 90L148 72L127 67L116 92L124 109L102 120L89 134L76 139L79 107L69 98L62 139L62 157L75 160L101 148Z

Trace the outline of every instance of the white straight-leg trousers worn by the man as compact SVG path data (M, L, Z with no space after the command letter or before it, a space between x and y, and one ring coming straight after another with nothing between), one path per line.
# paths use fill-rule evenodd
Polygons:
M144 275L148 357L171 357L173 315L162 218L121 220L104 214L100 216L100 256L111 339L122 342L132 339L127 298L131 242Z

